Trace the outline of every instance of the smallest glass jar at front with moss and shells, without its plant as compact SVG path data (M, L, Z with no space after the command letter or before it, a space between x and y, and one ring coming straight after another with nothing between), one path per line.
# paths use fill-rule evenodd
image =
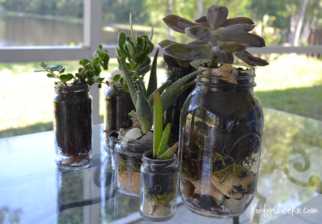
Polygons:
M154 160L153 151L143 154L141 165L140 214L152 222L172 219L177 207L177 157Z

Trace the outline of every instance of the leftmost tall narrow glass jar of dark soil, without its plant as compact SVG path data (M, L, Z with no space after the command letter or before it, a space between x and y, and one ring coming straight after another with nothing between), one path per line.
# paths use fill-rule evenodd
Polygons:
M92 96L89 85L55 84L55 162L64 169L81 169L93 160Z

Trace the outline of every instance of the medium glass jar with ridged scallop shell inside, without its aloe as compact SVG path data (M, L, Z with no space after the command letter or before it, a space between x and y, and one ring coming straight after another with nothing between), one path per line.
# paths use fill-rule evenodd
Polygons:
M115 146L115 187L122 194L140 196L140 166L142 155L153 149L153 140L140 140L125 137L121 132Z

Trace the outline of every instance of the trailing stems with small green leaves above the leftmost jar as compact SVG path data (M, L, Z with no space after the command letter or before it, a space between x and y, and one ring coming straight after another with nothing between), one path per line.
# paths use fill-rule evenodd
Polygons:
M102 68L104 70L108 69L109 56L107 55L106 50L102 51L102 45L100 45L99 49L100 50L95 52L94 55L92 56L91 58L92 61L86 58L79 61L79 64L82 65L82 67L78 69L78 73L75 73L75 75L71 73L62 74L65 72L65 68L63 68L61 64L49 66L47 63L44 63L44 62L40 63L40 66L42 66L43 69L34 70L34 72L42 72L42 71L48 72L47 76L49 78L57 78L66 86L68 81L73 80L73 82L70 84L72 86L85 85L85 84L89 84L91 86L95 82L97 82L99 83L98 87L102 88L102 83L104 83L103 82L104 78L95 79L95 76L100 75ZM120 75L116 75L114 77L114 79L117 81L119 80L119 78L120 78ZM107 85L114 85L113 86L114 90L118 93L118 90L115 86L117 84L108 84L108 81L106 81L105 83Z

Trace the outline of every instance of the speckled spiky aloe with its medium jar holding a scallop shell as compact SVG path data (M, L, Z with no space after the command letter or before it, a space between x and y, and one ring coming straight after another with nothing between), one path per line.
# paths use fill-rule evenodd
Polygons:
M153 147L153 133L151 132L153 125L153 93L156 90L161 93L162 112L164 112L192 84L191 82L186 84L186 82L201 72L196 71L186 75L168 88L170 81L157 88L158 52L154 57L148 88L146 88L139 76L136 76L139 84L135 86L124 58L119 49L116 48L116 53L126 78L127 88L136 109L138 126L120 133L119 143L115 147L115 185L120 192L133 197L139 197L140 193L142 155Z

